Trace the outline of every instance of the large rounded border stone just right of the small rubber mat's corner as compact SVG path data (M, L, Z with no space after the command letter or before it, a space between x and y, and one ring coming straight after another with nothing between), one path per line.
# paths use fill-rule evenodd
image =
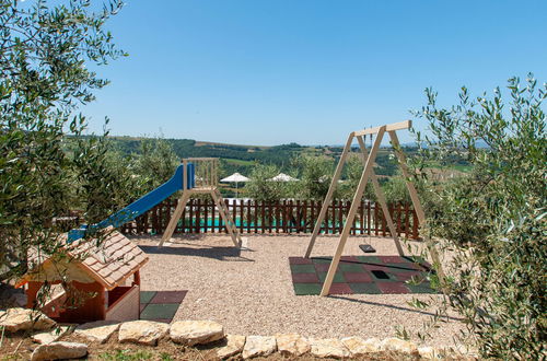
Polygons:
M194 346L218 341L224 338L224 328L213 321L177 321L171 325L173 342Z

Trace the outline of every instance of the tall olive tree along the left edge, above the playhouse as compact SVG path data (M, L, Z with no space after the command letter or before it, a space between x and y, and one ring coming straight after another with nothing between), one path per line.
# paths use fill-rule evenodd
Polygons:
M121 2L93 12L84 0L0 0L0 280L26 271L27 252L59 247L51 219L74 201L74 162L65 135L81 135L78 106L107 84L90 70L123 56L106 20Z

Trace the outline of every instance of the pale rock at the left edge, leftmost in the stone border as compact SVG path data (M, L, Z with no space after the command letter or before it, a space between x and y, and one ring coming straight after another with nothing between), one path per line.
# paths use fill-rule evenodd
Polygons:
M28 329L50 329L55 325L55 321L42 312L31 308L8 308L0 315L0 327L5 327L5 330L10 333Z

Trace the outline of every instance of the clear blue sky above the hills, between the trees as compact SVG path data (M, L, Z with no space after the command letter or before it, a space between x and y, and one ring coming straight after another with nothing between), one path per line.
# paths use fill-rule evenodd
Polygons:
M82 112L120 136L340 144L410 118L428 86L453 104L547 81L545 0L128 0L108 28L129 57Z

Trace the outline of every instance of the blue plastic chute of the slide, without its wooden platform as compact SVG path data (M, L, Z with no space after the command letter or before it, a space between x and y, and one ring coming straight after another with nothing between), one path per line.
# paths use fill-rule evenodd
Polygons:
M188 163L187 166L188 166L188 172L186 172L186 177L187 177L186 188L191 189L196 185L195 166L193 163ZM114 228L118 228L126 222L132 221L133 219L141 216L155 205L166 199L175 191L182 190L184 187L183 177L184 177L184 165L179 165L176 168L175 174L171 177L171 179L168 179L154 190L150 191L142 198L133 201L126 208L117 211L116 213L112 214L107 219L96 224L92 225L82 224L79 229L69 231L67 243L71 243L80 238L83 238L86 233L95 232L110 225Z

